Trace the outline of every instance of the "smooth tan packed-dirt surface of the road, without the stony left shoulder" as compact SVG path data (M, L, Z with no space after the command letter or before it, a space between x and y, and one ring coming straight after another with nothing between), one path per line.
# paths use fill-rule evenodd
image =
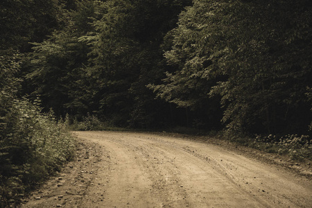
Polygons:
M218 146L146 133L76 134L109 153L98 207L312 207L309 180Z

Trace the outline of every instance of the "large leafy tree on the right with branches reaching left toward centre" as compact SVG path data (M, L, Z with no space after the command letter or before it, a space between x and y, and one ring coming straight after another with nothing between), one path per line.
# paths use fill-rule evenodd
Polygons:
M304 132L311 13L309 1L193 1L167 35L176 68L150 87L182 107L221 96L234 132Z

